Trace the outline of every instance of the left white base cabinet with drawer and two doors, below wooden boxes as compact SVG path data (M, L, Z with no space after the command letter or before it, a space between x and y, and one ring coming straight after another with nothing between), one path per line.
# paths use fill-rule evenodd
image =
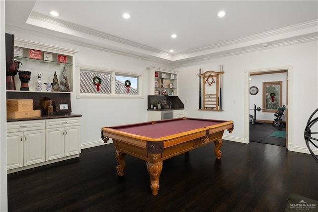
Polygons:
M45 161L45 121L7 123L7 169Z

